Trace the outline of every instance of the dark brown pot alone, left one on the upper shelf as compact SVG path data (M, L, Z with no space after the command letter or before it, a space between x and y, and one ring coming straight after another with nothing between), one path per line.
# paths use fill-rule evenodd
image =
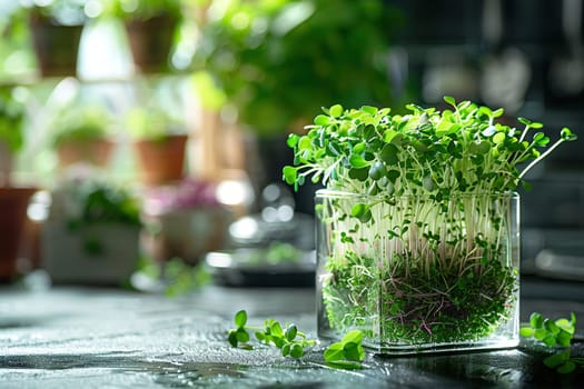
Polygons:
M56 24L39 14L31 14L29 24L40 74L76 76L83 26Z

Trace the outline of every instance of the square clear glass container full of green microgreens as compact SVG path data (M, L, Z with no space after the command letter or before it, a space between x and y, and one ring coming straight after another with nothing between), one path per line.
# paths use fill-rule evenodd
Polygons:
M503 110L445 98L390 114L333 106L290 136L316 194L318 331L364 331L383 353L505 348L518 343L519 196L525 173L575 136L542 123L498 122Z

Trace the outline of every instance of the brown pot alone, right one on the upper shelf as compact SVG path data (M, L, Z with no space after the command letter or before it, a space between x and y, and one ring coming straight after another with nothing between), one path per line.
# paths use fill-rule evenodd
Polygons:
M169 70L169 54L178 19L164 14L147 20L129 20L126 32L133 63L143 73Z

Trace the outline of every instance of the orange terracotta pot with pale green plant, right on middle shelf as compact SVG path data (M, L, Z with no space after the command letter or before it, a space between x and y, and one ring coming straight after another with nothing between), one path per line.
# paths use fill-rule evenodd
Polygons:
M135 107L126 127L138 156L139 178L147 186L180 181L185 177L188 134L184 124L158 106Z

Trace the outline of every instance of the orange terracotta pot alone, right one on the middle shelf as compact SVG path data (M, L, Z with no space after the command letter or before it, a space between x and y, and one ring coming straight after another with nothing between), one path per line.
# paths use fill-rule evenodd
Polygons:
M179 181L185 177L185 152L188 136L169 136L162 140L138 140L139 178L147 186Z

